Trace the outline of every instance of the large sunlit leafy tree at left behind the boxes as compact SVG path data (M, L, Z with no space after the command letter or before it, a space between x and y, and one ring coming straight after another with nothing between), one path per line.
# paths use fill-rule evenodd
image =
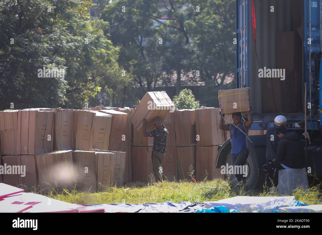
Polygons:
M86 0L1 2L1 110L11 102L14 108L81 108L90 100L97 104L100 91L118 89L109 87L123 70L118 49L104 35L108 23L91 20L91 6ZM39 78L43 67L64 69L64 80Z

